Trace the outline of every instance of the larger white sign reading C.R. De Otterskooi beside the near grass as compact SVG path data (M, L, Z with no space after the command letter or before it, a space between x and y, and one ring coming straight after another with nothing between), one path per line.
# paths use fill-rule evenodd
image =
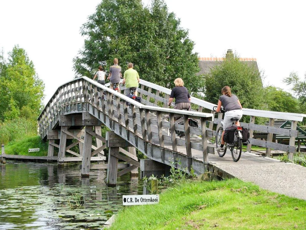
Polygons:
M159 195L124 195L123 205L155 205L159 203Z

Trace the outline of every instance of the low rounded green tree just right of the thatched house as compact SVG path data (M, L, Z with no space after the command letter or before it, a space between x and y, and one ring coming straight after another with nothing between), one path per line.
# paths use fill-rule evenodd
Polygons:
M298 113L300 110L299 100L280 88L268 86L265 88L265 95L271 111Z

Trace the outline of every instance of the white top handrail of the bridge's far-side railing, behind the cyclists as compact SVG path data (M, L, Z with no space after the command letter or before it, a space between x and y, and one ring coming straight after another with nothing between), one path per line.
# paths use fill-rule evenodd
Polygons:
M147 82L145 80L140 80L140 84L151 87L155 90L159 90L163 93L166 94L171 94L171 90L167 89L163 86L156 85L151 82ZM212 110L214 106L217 106L213 103L206 102L204 100L201 100L199 98L195 98L191 96L191 102L202 106L203 108L210 109ZM285 120L290 120L290 121L302 121L304 117L306 117L306 114L301 114L301 113L284 113L284 112L276 112L276 111L268 111L268 110L259 110L259 109L247 109L243 108L242 109L243 115L248 115L248 116L256 116L256 117L267 117L267 118L274 118L274 119L285 119Z

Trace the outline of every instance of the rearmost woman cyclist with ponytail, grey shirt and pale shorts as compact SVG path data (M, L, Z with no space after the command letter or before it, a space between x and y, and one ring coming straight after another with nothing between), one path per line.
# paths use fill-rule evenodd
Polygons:
M218 107L216 109L216 112L218 113L222 105L225 110L225 115L223 120L223 132L221 137L221 147L218 149L220 152L224 151L223 148L225 144L225 142L223 141L224 130L225 128L230 127L233 123L230 119L233 117L241 119L242 117L241 103L239 102L237 96L231 93L230 87L224 86L221 92L222 96L219 97ZM237 121L236 125L240 126L239 121Z

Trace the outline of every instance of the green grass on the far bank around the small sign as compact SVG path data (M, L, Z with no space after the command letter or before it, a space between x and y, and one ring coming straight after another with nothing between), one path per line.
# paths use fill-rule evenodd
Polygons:
M43 142L40 136L33 136L21 141L9 142L4 146L6 154L47 156L48 142ZM39 152L28 152L29 148L40 148Z

